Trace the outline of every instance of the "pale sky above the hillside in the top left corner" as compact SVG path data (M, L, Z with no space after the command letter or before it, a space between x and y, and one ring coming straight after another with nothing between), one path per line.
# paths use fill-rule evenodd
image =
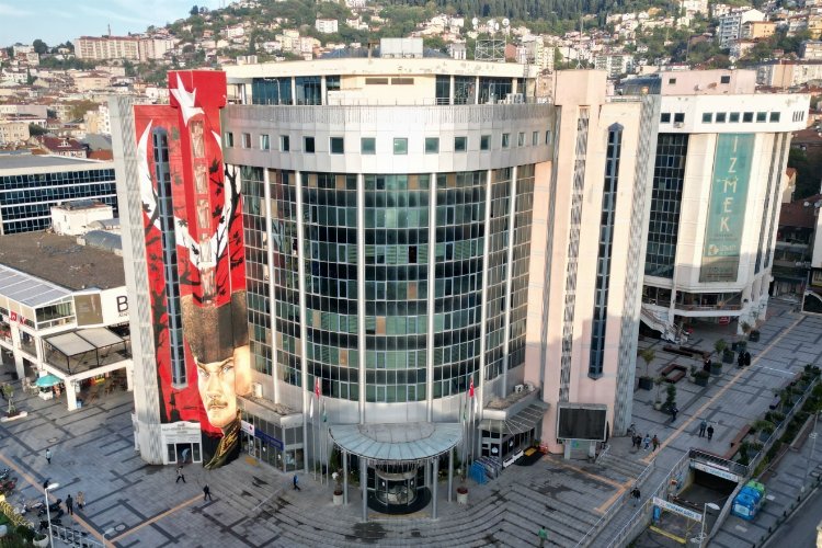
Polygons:
M36 38L54 46L80 36L144 32L189 16L192 5L209 9L228 0L0 0L0 46Z

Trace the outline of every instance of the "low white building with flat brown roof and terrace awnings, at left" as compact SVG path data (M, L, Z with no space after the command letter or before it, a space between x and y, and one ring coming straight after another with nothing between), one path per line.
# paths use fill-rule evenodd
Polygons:
M14 365L16 379L27 387L54 375L69 411L98 384L130 389L123 259L49 232L2 239L0 357ZM52 399L53 388L38 395Z

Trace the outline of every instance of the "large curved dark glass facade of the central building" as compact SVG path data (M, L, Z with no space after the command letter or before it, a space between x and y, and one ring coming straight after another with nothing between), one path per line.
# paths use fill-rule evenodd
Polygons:
M323 396L342 400L363 396L361 352L366 402L456 396L471 379L479 386L483 332L487 380L500 376L505 364L509 369L522 365L534 170L533 164L437 174L270 170L266 203L264 170L240 168L254 368L266 375L276 369L278 380L301 386L301 328L307 386L320 379ZM361 253L364 295L358 294Z

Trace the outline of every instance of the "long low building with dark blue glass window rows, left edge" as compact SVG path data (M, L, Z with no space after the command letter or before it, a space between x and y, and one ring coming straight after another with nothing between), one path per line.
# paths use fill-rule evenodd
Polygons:
M52 207L96 199L117 213L112 162L60 156L0 157L0 235L45 230Z

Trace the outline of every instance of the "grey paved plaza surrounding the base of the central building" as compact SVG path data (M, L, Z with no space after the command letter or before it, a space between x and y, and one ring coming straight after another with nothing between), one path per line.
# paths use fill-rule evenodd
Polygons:
M650 344L663 346L660 341L640 342ZM697 333L689 344L712 349L709 334ZM362 524L355 486L350 504L334 506L333 486L328 482L300 473L302 490L293 491L292 475L250 457L215 471L186 466L186 482L175 483L173 466L146 465L135 452L127 392L68 413L64 399L42 401L22 395L15 384L19 408L30 414L0 424L0 467L13 467L21 478L22 489L11 498L15 505L42 498L42 484L49 478L60 483L55 495L61 499L83 491L87 507L73 518L64 516L64 525L73 522L75 528L90 532L106 546L534 546L544 525L549 546L572 547L606 514L613 520L591 541L607 546L635 512L621 496L646 467L651 467L643 483L648 492L688 448L723 453L729 439L767 409L773 387L804 364L822 362L822 319L774 305L761 341L749 349L754 356L749 368L726 366L722 377L706 388L677 383L681 412L674 424L652 408L653 391L637 391L635 422L641 433L660 437L663 446L658 452L635 452L627 438L614 438L595 465L549 456L533 466L513 466L483 486L468 480L467 506L447 502L443 481L436 520L429 506L413 516L372 514ZM672 359L688 358L660 351L652 367L659 369ZM639 367L641 374L644 366ZM711 442L697 435L701 418L715 424ZM50 465L45 458L49 447ZM203 501L205 483L214 501ZM717 541L722 547L742 546L732 535Z

